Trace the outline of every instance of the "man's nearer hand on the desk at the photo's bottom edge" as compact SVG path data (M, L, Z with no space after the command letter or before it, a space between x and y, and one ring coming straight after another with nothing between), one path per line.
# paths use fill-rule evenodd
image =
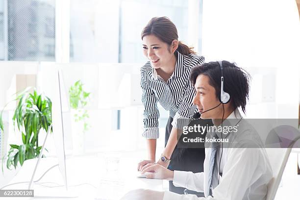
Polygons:
M121 200L163 200L164 192L137 189L125 194Z

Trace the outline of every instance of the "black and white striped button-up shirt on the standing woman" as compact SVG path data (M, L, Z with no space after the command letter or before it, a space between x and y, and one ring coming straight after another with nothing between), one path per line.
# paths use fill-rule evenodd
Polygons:
M175 128L177 128L176 119L190 118L197 111L196 105L192 103L195 89L189 81L189 76L192 67L203 62L203 56L195 54L187 56L178 52L175 70L167 82L157 75L150 61L141 68L142 102L144 105L143 136L146 139L159 137L157 102L164 109L169 110L170 116L174 118L172 125Z

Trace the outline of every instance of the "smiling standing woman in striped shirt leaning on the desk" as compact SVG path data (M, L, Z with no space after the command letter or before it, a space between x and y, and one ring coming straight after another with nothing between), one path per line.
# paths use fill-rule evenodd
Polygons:
M177 119L189 119L197 112L192 100L195 89L189 81L192 67L204 62L192 48L178 41L176 26L167 17L154 17L143 29L143 52L149 61L141 68L142 102L144 105L144 132L147 139L148 160L138 164L138 170L155 163L156 139L159 137L157 102L169 110L165 149L156 162L170 170L203 172L204 149L177 149ZM169 189L184 194L185 188Z

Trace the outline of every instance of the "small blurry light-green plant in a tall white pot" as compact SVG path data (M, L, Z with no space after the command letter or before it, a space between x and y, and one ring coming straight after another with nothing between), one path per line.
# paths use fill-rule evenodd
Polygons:
M69 89L74 154L83 154L85 151L85 133L89 128L89 114L85 107L90 94L84 91L81 80L77 80Z

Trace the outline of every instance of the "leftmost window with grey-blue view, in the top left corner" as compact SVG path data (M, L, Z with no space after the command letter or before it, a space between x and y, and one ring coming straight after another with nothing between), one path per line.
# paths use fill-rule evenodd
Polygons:
M55 51L45 53L55 47L55 0L6 2L0 0L0 60L55 61Z

